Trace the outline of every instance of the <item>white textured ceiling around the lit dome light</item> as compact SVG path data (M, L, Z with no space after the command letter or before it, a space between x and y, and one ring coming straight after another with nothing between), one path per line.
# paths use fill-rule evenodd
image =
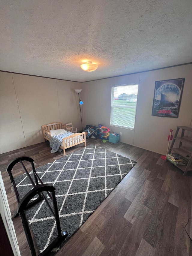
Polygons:
M79 82L192 62L192 1L1 0L0 45L0 70Z

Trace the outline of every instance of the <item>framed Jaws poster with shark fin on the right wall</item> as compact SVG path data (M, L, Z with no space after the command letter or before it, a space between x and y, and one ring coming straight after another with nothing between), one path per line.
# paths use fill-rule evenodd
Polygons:
M152 116L178 117L185 78L155 82Z

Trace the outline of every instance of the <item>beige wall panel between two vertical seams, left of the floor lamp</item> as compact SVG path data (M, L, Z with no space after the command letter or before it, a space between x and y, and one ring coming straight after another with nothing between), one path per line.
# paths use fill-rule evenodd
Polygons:
M13 74L26 145L42 141L41 125L60 121L55 79Z

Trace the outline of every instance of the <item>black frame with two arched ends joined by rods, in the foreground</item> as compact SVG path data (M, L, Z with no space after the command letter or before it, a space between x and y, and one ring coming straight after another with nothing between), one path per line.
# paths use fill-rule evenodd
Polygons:
M28 162L31 163L35 182L33 181L32 177L30 176L28 170L26 169L26 167L25 167L25 165L23 164L22 161L28 161ZM20 198L19 198L19 193L18 193L16 184L15 184L15 181L14 181L14 178L13 178L12 171L11 171L13 169L13 166L15 164L19 163L19 162L22 165L23 169L25 170L25 173L27 174L30 182L33 185L33 189L30 190L22 198L22 200L20 200ZM52 248L54 248L54 246L57 243L61 242L62 240L64 240L68 236L68 233L66 231L61 232L57 201L56 201L56 197L55 197L55 187L52 186L52 185L49 185L49 184L44 184L41 181L40 177L36 173L35 166L34 166L34 160L30 157L18 157L15 160L11 161L10 164L7 166L7 172L10 176L10 181L11 181L11 184L13 186L13 191L15 193L16 200L17 200L17 203L18 203L17 212L15 213L14 216L16 217L16 216L19 215L20 218L21 218L22 226L23 226L24 232L26 234L27 242L28 242L28 245L29 245L29 249L31 250L32 256L36 256L37 254L35 252L34 242L33 242L33 239L32 239L32 235L31 235L31 231L30 231L30 227L29 227L29 222L28 222L28 220L26 218L26 215L25 215L25 210L44 199L48 208L49 208L49 210L51 211L53 217L55 218L56 225L57 225L58 236L44 251L42 251L40 254L38 254L38 255L44 256L48 251L50 251ZM41 185L39 185L38 181L41 183ZM53 209L51 208L51 206L48 203L46 197L44 196L44 194L43 194L44 191L46 191L46 193L48 194L48 196L52 200ZM35 199L33 202L29 203L29 201L35 195L38 195L38 198Z

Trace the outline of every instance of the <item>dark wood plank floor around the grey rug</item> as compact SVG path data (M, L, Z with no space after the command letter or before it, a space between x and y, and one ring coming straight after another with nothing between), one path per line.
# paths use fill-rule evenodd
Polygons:
M125 143L102 143L87 140L112 152L137 161L135 167L88 218L75 235L57 253L67 255L130 255L181 256L192 255L192 242L184 230L192 216L192 172L183 172L161 155ZM79 147L66 150L70 153ZM35 167L46 164L62 153L50 153L47 142L0 155L0 169L7 192L11 214L16 198L6 167L19 156L29 156ZM14 176L22 174L18 166ZM13 218L21 255L30 255L20 218ZM192 236L192 221L187 226Z

